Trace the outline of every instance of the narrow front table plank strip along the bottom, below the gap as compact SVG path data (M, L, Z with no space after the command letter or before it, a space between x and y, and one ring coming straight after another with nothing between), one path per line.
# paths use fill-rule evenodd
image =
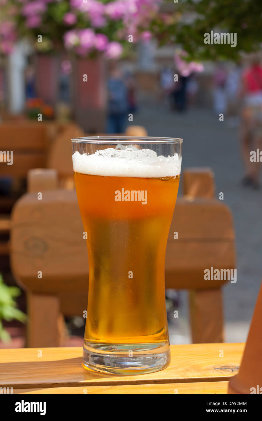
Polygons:
M132 384L122 386L49 387L44 389L13 389L14 394L209 394L227 392L228 381Z

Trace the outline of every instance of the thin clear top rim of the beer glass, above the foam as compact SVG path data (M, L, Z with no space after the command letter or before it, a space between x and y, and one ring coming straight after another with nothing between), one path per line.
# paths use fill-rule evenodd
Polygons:
M183 139L175 137L156 137L156 136L83 136L73 137L72 143L86 144L109 144L124 145L130 144L182 144Z

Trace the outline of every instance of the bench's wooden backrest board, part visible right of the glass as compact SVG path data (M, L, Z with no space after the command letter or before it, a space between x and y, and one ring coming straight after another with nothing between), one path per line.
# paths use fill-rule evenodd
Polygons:
M174 239L174 232L178 239ZM175 289L219 288L227 280L205 280L204 270L234 269L233 218L215 199L178 198L172 218L165 261L165 286Z

